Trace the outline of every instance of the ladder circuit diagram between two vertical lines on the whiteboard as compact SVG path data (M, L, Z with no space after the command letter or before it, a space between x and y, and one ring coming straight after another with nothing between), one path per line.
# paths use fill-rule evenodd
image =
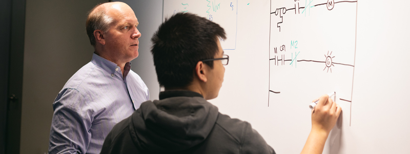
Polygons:
M268 107L335 91L351 115L357 1L271 0L270 13Z

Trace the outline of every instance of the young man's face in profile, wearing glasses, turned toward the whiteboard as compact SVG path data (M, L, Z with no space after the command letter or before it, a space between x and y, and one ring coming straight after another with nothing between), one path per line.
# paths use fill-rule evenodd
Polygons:
M219 42L219 39L217 40L218 52L215 54L214 59L223 57L221 44ZM213 61L213 63L214 68L209 69L210 73L209 76L207 76L209 82L208 97L206 98L207 100L218 97L219 89L221 88L223 82L223 75L225 73L225 67L222 65L222 62L220 60Z

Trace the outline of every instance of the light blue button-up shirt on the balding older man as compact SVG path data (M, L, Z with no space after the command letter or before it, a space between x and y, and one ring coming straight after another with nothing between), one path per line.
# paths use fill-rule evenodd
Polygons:
M125 75L115 63L94 53L91 62L68 80L53 103L50 154L100 153L114 125L149 100L138 74L130 70Z

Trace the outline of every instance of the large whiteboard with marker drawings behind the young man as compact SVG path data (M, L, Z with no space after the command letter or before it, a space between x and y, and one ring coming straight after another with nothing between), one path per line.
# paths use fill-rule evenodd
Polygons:
M191 12L227 31L221 45L230 62L219 96L210 102L221 113L250 122L277 153L300 153L311 129L309 103L333 91L343 111L323 153L409 153L410 2L175 0L162 5L136 16L162 11L163 21Z

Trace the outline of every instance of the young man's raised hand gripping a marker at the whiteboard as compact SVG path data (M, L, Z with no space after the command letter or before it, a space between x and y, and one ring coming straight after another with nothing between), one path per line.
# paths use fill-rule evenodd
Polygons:
M341 111L342 108L333 102L329 95L322 95L316 107L312 109L312 131L329 134L335 126Z

